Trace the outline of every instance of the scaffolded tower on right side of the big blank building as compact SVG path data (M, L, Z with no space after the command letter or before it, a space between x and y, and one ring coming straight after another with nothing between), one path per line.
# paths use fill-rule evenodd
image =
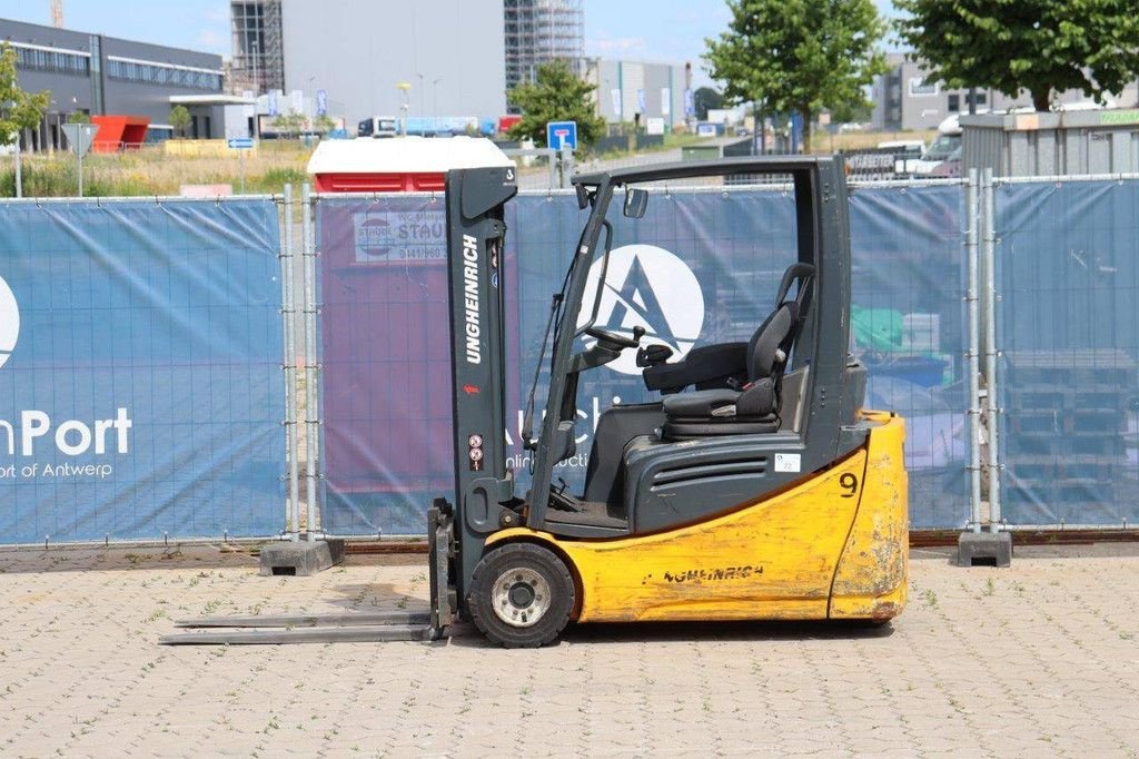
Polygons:
M583 0L505 0L506 85L533 82L540 64L585 55Z

